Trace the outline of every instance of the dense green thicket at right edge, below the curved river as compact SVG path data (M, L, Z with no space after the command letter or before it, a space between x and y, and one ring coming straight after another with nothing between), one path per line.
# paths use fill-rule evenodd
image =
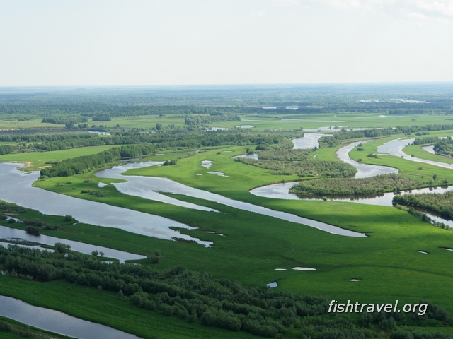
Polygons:
M393 198L394 205L423 208L447 220L453 220L453 191L445 193L403 194Z

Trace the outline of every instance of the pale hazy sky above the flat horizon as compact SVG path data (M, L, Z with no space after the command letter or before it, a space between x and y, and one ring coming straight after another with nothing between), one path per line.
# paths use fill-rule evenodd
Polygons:
M0 0L0 86L453 81L453 0Z

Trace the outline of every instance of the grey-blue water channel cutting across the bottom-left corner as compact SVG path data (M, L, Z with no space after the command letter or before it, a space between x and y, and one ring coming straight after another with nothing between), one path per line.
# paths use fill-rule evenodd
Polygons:
M137 339L139 337L99 323L75 318L53 309L36 307L21 300L0 295L0 316L14 319L45 331L84 339Z

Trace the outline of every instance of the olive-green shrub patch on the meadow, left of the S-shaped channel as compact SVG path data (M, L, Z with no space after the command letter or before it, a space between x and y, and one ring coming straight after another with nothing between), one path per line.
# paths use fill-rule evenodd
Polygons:
M246 165L270 169L275 175L297 174L299 177L348 177L355 174L352 165L339 161L311 161L301 162L280 160L255 160L246 157L236 157L234 160Z

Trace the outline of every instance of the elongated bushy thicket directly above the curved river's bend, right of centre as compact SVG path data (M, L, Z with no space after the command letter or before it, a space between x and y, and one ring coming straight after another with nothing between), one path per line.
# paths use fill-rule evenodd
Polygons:
M385 192L405 191L432 182L401 177L398 174L381 174L370 178L326 178L304 180L292 186L289 191L309 195L377 195Z

